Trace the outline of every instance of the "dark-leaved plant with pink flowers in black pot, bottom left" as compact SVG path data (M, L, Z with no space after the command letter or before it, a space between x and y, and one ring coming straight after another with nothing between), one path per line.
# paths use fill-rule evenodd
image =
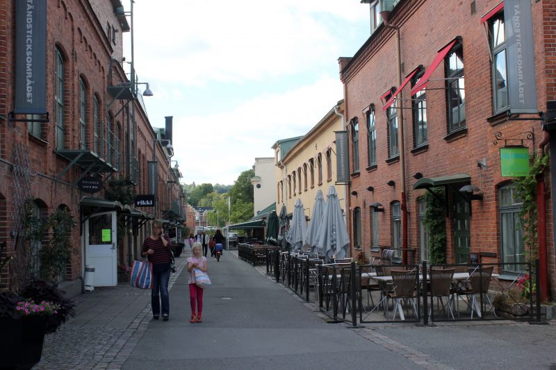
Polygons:
M0 368L31 369L40 361L44 335L54 333L74 303L53 283L31 278L19 294L0 293Z

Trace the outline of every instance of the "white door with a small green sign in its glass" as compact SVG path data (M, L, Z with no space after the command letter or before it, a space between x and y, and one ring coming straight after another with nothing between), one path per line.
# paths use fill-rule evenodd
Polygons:
M116 212L101 212L85 221L85 264L95 267L95 287L117 285Z

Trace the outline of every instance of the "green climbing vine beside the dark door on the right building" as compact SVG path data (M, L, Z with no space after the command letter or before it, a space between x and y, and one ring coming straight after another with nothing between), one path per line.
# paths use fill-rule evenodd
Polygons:
M446 262L446 219L442 199L444 199L444 190L441 187L431 189L425 194L427 209L423 222L429 232L430 264Z

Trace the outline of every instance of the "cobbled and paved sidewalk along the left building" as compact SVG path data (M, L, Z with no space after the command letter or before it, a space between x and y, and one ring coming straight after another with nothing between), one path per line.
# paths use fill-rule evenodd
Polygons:
M188 255L190 251L175 258L177 271L170 275L168 289L186 267ZM120 369L152 321L150 289L122 283L97 287L74 301L76 316L44 337L42 358L33 369Z

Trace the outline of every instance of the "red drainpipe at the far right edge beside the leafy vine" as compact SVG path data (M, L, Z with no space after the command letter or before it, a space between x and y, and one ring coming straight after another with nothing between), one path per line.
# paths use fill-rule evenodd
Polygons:
M550 133L543 131L543 140L539 142L537 147L537 155L544 154L544 146L550 141ZM539 234L539 289L541 292L541 301L548 301L548 258L546 250L546 188L544 183L544 171L537 176L537 209L539 210L539 219L537 233Z

